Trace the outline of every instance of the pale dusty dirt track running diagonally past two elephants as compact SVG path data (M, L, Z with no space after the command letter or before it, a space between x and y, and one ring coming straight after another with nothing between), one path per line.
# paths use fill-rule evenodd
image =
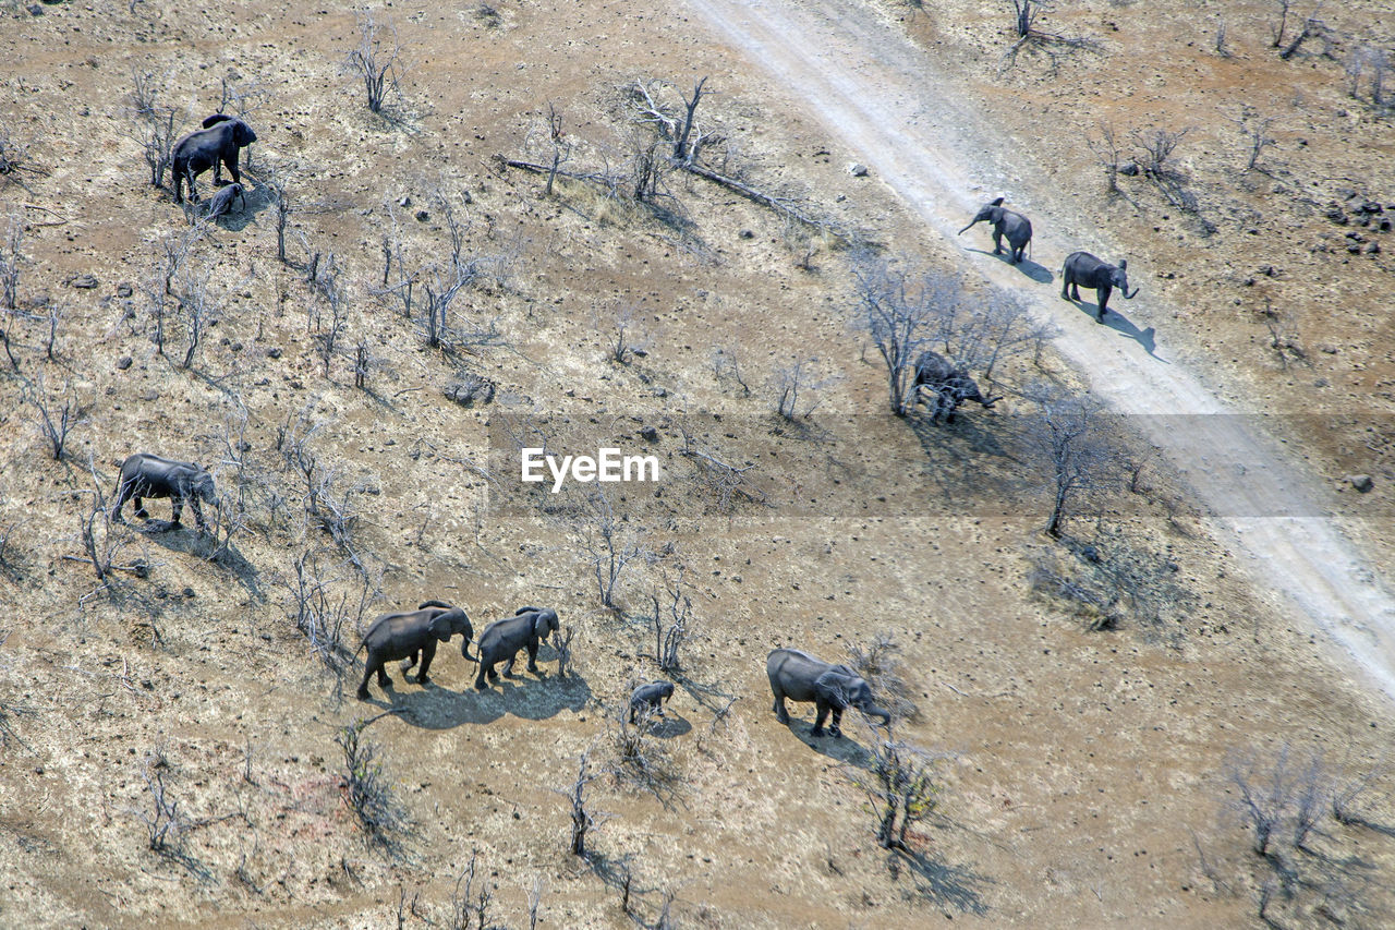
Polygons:
M936 96L935 67L922 50L851 0L688 4L720 39L766 68L940 235L954 239L993 193L1010 191L1013 202L1032 214L1032 257L1041 264L1024 275L990 256L967 251L965 268L1013 288L1034 311L1053 318L1062 327L1057 348L1113 409L1138 415L1140 431L1187 475L1218 524L1233 533L1226 542L1249 556L1257 582L1329 633L1395 698L1395 600L1374 566L1364 564L1324 514L1327 492L1320 482L1264 436L1253 418L1239 416L1246 411L1221 402L1189 371L1166 345L1166 334L1117 316L1098 325L1060 300L1055 276L1064 256L1077 249L1106 250L1069 207L1052 204L1046 212L1050 198L1043 172L1021 158L1014 158L1010 170L995 161L993 154L1010 151L1013 142L981 126L961 102ZM982 249L988 233L968 239L957 242ZM1138 271L1133 283L1144 285L1141 299L1124 303L1116 292L1119 306L1110 313L1169 320L1168 309L1147 295L1148 278Z

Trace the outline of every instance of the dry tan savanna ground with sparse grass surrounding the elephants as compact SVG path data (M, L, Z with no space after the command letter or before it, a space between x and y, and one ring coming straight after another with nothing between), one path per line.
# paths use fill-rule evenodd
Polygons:
M1274 49L1268 4L1089 3L1036 25L1095 47L1031 42L1011 67L1006 6L880 11L1034 140L1024 175L1056 187L1038 211L1110 216L1092 235L1184 309L1165 324L1184 363L1315 415L1292 436L1380 564L1380 4L1324 8L1282 59L1306 7ZM1078 388L1049 344L996 369L992 411L887 412L858 256L964 256L681 4L375 10L405 66L377 115L343 67L345 4L3 15L4 926L523 927L530 899L554 927L1395 919L1384 698L1147 450L1042 535L1020 391ZM633 88L681 117L702 77L699 163L774 208L670 165ZM176 134L246 112L243 211L191 226L151 186L138 82ZM1119 163L1136 128L1190 128L1177 173L1108 191L1085 137L1109 126ZM1275 140L1251 170L1247 127ZM554 154L550 194L501 161ZM654 454L664 479L604 503L522 492L530 437ZM215 533L103 517L135 451L209 468ZM357 701L359 634L431 598L477 631L552 606L572 667L544 647L543 676L477 693L452 642L431 684L392 667ZM685 617L678 670L654 659L656 607ZM898 849L866 788L884 732L850 712L843 739L812 737L809 705L783 726L763 673L776 647L848 660L882 635L893 733L935 788ZM667 718L621 728L629 688L664 677Z

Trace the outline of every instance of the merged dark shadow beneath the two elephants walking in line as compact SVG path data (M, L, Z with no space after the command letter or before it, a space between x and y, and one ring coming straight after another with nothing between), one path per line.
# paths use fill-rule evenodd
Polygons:
M402 719L427 730L449 730L463 723L492 723L509 714L526 721L544 721L564 709L582 711L591 702L590 686L586 679L575 674L565 679L547 676L530 680L526 686L515 681L522 679L501 677L485 691L476 691L473 687L452 691L437 684L399 691L388 686L385 693L391 702L377 698L370 702L396 711ZM409 677L409 684L416 684L414 676Z

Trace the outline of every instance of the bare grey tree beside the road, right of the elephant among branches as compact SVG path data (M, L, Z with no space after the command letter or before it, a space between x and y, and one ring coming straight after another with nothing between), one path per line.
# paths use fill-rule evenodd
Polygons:
M1073 395L1041 383L1028 387L1024 395L1036 405L1028 443L1045 464L1052 493L1046 533L1059 538L1076 497L1112 479L1112 450L1098 431L1091 431L1102 405L1092 397Z

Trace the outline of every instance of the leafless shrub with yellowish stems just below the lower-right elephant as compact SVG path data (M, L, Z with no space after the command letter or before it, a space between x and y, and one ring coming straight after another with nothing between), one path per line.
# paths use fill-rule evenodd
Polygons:
M914 852L911 828L939 807L935 781L940 755L904 741L879 740L868 728L870 760L866 768L845 767L848 779L861 788L876 811L876 841L883 849Z

